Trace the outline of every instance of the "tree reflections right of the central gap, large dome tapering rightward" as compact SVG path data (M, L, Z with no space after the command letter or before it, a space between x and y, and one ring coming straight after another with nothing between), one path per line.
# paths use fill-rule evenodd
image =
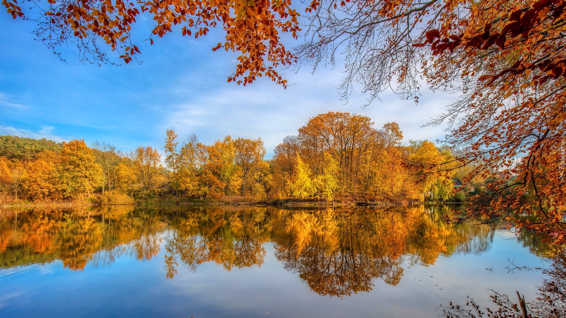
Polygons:
M286 217L285 233L272 239L284 268L298 272L316 293L350 295L371 290L376 278L397 285L405 260L428 265L440 253L487 249L486 227L455 228L435 219L423 207L298 211Z

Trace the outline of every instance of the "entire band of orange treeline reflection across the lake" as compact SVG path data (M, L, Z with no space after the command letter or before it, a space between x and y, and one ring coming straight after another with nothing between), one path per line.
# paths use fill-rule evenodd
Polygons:
M452 227L443 207L279 209L140 208L0 210L0 268L61 260L70 270L104 267L123 256L150 260L161 249L165 277L213 262L260 267L272 242L284 268L320 295L397 285L404 268L440 255L482 253L487 226ZM529 244L524 239L525 244ZM542 244L535 244L543 253Z

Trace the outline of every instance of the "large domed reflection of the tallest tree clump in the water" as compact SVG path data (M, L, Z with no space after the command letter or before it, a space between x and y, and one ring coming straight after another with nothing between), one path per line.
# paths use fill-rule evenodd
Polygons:
M286 233L273 238L275 256L321 295L371 290L374 278L396 285L403 272L399 261L387 255L375 257L376 244L366 239L373 236L372 229L365 220L351 221L351 216L335 216L331 210L291 212Z

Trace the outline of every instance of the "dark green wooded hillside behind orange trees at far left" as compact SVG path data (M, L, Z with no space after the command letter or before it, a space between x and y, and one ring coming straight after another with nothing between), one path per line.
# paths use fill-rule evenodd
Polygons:
M44 150L59 152L62 143L53 140L0 136L0 156L8 159L29 160Z

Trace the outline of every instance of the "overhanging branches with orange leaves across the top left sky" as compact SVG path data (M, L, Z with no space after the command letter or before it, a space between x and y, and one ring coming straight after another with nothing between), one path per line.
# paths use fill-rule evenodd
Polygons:
M37 22L38 40L57 53L57 46L76 41L84 62L110 62L100 41L119 52L129 63L138 46L132 43L132 25L140 14L155 20L152 35L164 36L175 26L183 36L207 35L210 28L220 26L226 32L224 44L213 48L238 51L239 64L228 81L246 85L267 76L286 87L287 81L276 71L280 65L294 62L293 55L280 42L280 32L297 37L298 12L290 0L28 0L29 13L17 0L2 0L14 19ZM35 16L33 16L35 15ZM151 36L149 41L153 44Z

